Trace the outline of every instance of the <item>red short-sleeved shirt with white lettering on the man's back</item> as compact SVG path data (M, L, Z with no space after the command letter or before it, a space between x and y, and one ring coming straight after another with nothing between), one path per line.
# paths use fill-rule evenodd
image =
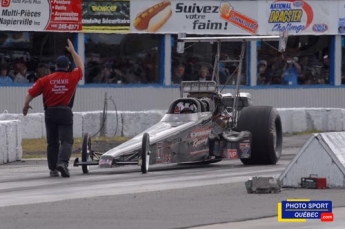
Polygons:
M28 90L32 97L43 95L45 107L68 106L73 104L72 99L79 80L83 78L80 68L71 72L54 72L38 79Z

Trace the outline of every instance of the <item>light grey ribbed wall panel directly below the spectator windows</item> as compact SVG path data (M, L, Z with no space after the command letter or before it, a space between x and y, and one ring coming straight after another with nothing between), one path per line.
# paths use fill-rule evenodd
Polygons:
M22 112L24 98L28 86L0 85L0 113L8 111L12 114ZM305 85L301 88L278 85L277 87L241 87L241 92L252 95L254 105L274 106L277 108L312 108L332 107L345 108L345 84L333 85ZM235 94L233 86L225 87L222 93ZM170 103L180 98L180 90L174 87L143 86L143 85L100 85L80 86L76 91L73 111L88 112L103 110L107 95L108 110L142 111L167 110ZM31 113L42 113L42 96L36 97L30 105Z

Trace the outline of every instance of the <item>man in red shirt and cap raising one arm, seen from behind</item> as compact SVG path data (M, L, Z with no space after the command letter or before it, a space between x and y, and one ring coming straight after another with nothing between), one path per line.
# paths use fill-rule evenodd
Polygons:
M68 162L73 147L73 101L79 80L83 77L84 64L67 40L66 49L72 55L76 65L70 70L70 61L66 56L56 59L55 72L38 79L28 90L23 106L26 116L32 99L42 94L44 118L47 132L47 159L50 176L70 177Z

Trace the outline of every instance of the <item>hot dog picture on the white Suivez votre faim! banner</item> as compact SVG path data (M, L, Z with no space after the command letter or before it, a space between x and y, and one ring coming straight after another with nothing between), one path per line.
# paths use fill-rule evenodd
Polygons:
M171 14L171 2L162 1L139 12L133 26L140 31L156 32L169 20Z

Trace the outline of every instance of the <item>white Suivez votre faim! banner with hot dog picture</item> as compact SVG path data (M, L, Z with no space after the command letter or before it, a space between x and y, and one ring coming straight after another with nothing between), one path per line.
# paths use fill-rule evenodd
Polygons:
M131 32L256 34L258 1L133 1Z

